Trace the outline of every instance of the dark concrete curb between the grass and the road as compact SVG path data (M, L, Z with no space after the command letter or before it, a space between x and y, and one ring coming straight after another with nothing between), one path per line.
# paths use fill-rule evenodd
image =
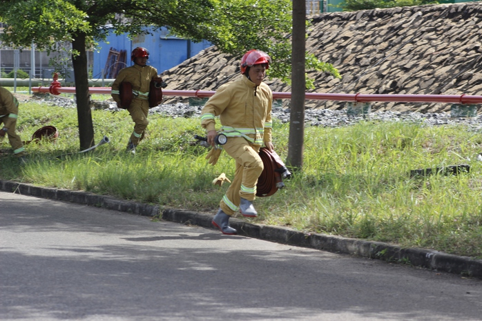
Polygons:
M98 206L142 216L153 217L159 215L162 217L162 220L166 221L213 228L211 224L213 215L210 214L176 209L167 209L161 213L159 206L117 200L114 197L95 195L82 191L44 188L1 180L0 190L51 200ZM411 264L436 271L482 279L482 260L474 260L470 257L450 255L427 249L404 249L400 246L393 246L382 242L371 242L318 233L302 233L294 231L291 228L252 224L236 218L232 218L229 222L233 228L238 230L238 235L256 237L260 240L302 246L333 253L356 255L358 257L384 260L387 262Z

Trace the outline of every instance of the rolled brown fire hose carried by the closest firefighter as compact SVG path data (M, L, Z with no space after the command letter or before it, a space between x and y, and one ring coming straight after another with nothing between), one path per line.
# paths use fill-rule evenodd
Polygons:
M282 179L291 177L291 173L274 150L270 152L267 148L262 147L259 154L264 168L258 178L256 196L267 197L276 193L279 188L285 187Z

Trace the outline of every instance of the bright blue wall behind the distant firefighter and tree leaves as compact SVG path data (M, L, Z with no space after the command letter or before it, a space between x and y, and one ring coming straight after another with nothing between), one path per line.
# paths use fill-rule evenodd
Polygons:
M126 50L126 66L132 65L131 52L135 47L147 48L149 50L148 64L157 68L157 72L161 73L181 64L182 61L210 46L211 43L208 41L194 43L188 39L168 36L166 28L153 32L153 35L141 35L132 40L128 39L127 35L117 36L110 32L106 42L99 41L99 52L94 52L92 75L93 78L102 78L102 70L106 68L110 48L116 51Z

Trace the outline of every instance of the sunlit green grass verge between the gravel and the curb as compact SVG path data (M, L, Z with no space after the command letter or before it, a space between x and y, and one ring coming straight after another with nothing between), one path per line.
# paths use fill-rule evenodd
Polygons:
M148 135L136 155L125 152L133 124L125 110L93 110L97 142L78 151L75 109L21 105L18 130L24 139L39 127L59 129L57 142L28 144L30 162L19 167L6 140L0 143L0 177L41 186L70 188L127 200L214 213L233 178L233 160L223 153L209 165L208 150L193 142L204 134L199 119L149 116ZM274 143L287 155L289 126L275 121ZM482 136L465 126L362 121L340 128L307 127L304 164L286 188L255 201L253 222L420 246L482 257ZM470 173L410 177L411 170L469 164Z

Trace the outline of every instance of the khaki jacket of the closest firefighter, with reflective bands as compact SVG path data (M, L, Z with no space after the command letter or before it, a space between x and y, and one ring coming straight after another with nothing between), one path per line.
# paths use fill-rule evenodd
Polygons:
M267 84L256 86L246 76L220 86L201 111L201 126L215 130L219 116L227 137L244 137L251 144L271 142L273 93Z

